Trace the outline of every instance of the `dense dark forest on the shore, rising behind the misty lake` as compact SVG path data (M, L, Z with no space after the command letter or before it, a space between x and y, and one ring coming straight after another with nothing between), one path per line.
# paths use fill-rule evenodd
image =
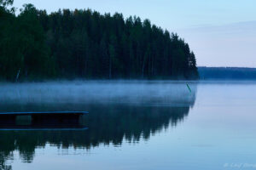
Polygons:
M198 77L195 54L176 34L138 17L32 4L15 15L0 0L0 77L177 79Z

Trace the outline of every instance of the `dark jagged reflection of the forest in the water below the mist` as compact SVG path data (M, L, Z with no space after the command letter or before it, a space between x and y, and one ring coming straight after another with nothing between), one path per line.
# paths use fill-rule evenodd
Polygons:
M14 150L19 150L22 161L31 162L35 149L47 143L61 148L90 149L99 144L122 144L124 139L128 142L149 139L170 125L177 126L195 104L194 93L185 99L172 99L172 102L167 99L168 102L160 101L154 106L111 103L6 105L6 111L10 108L16 111L37 111L38 108L40 111L89 111L90 114L83 118L89 128L85 131L0 131L0 169L11 169L6 160L13 157Z

